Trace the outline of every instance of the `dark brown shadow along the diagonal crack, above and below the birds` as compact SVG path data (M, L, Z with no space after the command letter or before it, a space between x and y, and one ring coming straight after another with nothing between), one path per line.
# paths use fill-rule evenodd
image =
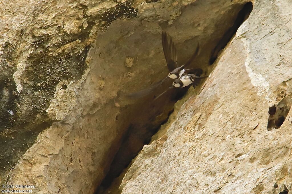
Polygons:
M186 12L188 12L187 14L196 13L194 9L200 9L200 7L197 6L197 4L198 3L195 2L194 5L190 6L191 8L186 7L188 9L186 10ZM226 21L221 21L222 22L221 29L218 29L213 34L208 35L206 40L202 39L200 41L201 53L197 57L196 62L194 62L196 66L192 64L190 65L191 66L190 68L200 69L202 72L204 72L203 75L209 73L207 72L207 68L210 68L209 61L215 60L217 58L218 52L225 47L228 41L230 41L230 38L232 38L234 33L236 33L238 27L249 16L253 7L252 3L250 2L246 3L245 5L237 4L232 6L234 7L230 7L230 10L226 12L225 15L221 16L222 18L226 18ZM182 10L182 13L183 12L184 10ZM196 15L194 15L193 17L196 17ZM174 23L172 27L178 28L179 24L180 24L179 22L178 24ZM166 22L160 23L159 25L162 26L162 29L166 30L167 28ZM165 26L165 28L163 26ZM222 29L223 28L222 26L226 27L227 30ZM183 29L178 28L178 31L180 30ZM223 37L222 38L223 40L218 39L218 33L219 37ZM141 33L140 34L133 33L133 37L136 37L137 41L140 40L141 38L140 36ZM148 35L144 34L143 36L144 39L146 40L145 36ZM195 49L196 45L195 43L197 43L196 38L197 37L194 36L194 38L185 40L184 42L178 42L175 45L177 47L179 55L178 61L184 62L187 61L187 57L189 57L192 54L192 50ZM173 39L175 40L174 36ZM161 40L159 40L159 42L157 41L157 43L161 44L160 42ZM186 45L184 45L184 43ZM144 45L144 49L147 49L146 47L148 46ZM210 56L212 56L213 59L211 59ZM198 66L197 63L199 63ZM202 74L202 72L200 74ZM203 81L201 81L200 83L203 83ZM200 85L198 87L200 87ZM160 90L164 91L166 88L168 88L168 86L165 88L161 88ZM187 92L187 89L188 88L186 87L182 88L181 90L173 91L170 90L166 92L164 95L162 95L159 99L156 99L155 101L153 101L153 99L154 96L157 96L157 92L153 92L153 94L143 97L138 102L136 102L135 108L131 106L131 108L129 108L128 111L121 110L121 113L126 112L125 114L119 115L119 121L120 120L123 121L123 123L121 123L121 128L126 127L126 123L128 123L128 126L131 127L128 127L127 131L121 134L122 136L121 140L117 140L115 148L112 149L113 153L115 149L117 151L112 159L112 163L109 164L110 165L109 170L108 172L106 172L106 176L103 179L102 184L97 189L96 193L107 193L107 188L111 186L114 179L118 177L125 168L127 168L127 166L131 163L132 159L134 159L135 156L137 156L138 152L143 148L143 146L149 143L150 138L157 132L159 126L167 122L168 115L173 110L173 105L178 99L181 99L183 97L183 95ZM145 116L147 116L148 118L147 120L145 120ZM118 190L118 188L115 189ZM112 190L111 193L119 193L120 191L117 190L116 191Z

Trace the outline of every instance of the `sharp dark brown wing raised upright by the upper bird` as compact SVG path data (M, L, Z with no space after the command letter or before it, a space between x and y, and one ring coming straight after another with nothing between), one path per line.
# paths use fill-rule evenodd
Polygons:
M167 34L166 32L162 32L161 34L162 39L162 48L164 52L164 57L167 63L167 67L169 72L172 72L177 67L177 55L174 43L172 41L172 38L170 38L169 45L167 41Z

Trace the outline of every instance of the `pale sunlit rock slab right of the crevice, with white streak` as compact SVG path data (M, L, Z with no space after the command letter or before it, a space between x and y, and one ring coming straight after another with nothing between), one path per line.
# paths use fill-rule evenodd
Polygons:
M255 1L199 94L188 97L160 139L144 146L122 193L292 189L291 111L279 129L267 127L269 107L291 108L291 5Z

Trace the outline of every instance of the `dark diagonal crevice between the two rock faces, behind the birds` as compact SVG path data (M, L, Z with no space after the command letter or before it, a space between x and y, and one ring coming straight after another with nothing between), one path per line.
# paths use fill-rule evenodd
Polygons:
M192 17L195 18L196 12L194 10L199 9L199 4L203 4L204 6L204 2L196 1L192 5L185 7L182 10L182 15L180 17L185 17L185 15L192 13ZM206 5L207 4L208 3L206 3ZM218 29L214 30L210 34L205 34L204 38L201 39L200 46L204 51L200 52L196 60L197 62L192 64L192 67L203 70L204 74L210 74L214 68L214 65L210 65L217 60L220 51L222 51L230 42L232 37L234 37L238 28L250 15L252 8L253 4L251 2L231 5L230 10L220 16L220 21L218 20L217 25ZM175 27L175 25L178 24L176 24L175 21L172 25ZM201 24L198 24L198 26L199 25ZM159 26L165 31L172 30L171 28L168 29L166 22L159 23ZM193 31L195 30L196 29L193 29ZM174 37L174 35L178 33L179 32L173 32L172 36ZM161 40L158 38L157 44L160 44L160 41ZM182 56L179 60L187 60L187 56L185 55L186 53L190 54L190 51L186 50L188 48L194 49L194 42L196 41L197 39L194 37L187 40L181 40L177 43L178 48L182 48L181 50L177 49L179 51L178 55ZM184 53L184 51L186 52ZM200 63L200 65L197 63ZM201 83L203 83L203 81L201 81ZM200 85L198 87L200 87ZM116 151L113 151L115 154L112 158L112 162L109 164L109 169L105 172L105 178L103 179L101 185L98 185L95 193L121 192L119 191L119 185L122 181L122 176L126 173L126 169L131 164L131 161L137 156L138 152L142 150L143 146L150 142L151 137L157 132L161 124L167 122L169 115L173 111L175 102L182 99L187 90L188 87L175 92L166 92L165 95L161 96L160 99L157 99L156 101L153 101L155 95L149 95L143 98L143 100L136 102L135 106L138 108L133 108L129 111L129 108L126 107L122 111L129 111L127 115L116 116L116 120L126 120L128 127L125 132L122 132L121 139L117 140ZM149 112L149 110L152 109L156 110L157 107L163 108L164 110L157 110L151 113ZM145 120L141 118L143 115L147 114L153 115L149 117L145 123ZM136 117L137 121L133 123L129 117ZM139 121L143 121L143 123Z

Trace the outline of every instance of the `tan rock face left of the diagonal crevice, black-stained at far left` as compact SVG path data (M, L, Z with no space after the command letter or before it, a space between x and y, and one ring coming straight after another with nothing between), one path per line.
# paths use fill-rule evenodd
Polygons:
M211 17L223 28L210 33L220 36L198 40L191 3L2 1L1 183L35 185L34 193L93 193L109 170L118 175L180 97L124 98L167 75L161 31L176 37L180 63L205 40L204 61L236 15L223 3L232 17ZM184 7L187 14L167 27ZM206 73L204 66L197 67ZM110 168L112 161L121 168Z

